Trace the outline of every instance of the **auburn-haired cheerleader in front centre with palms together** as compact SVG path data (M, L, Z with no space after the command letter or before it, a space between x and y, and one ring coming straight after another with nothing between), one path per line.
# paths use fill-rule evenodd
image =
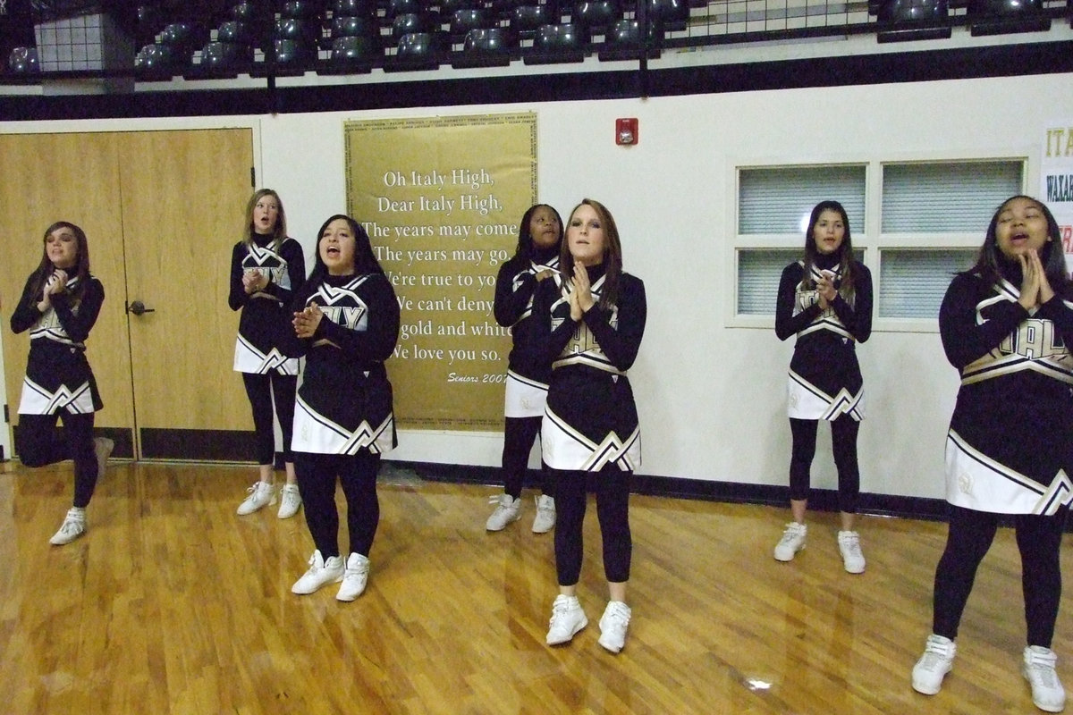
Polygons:
M626 371L637 357L645 331L645 286L622 272L615 220L602 204L588 198L571 213L559 260L561 285L541 283L533 306L540 332L532 345L554 356L541 426L558 511L559 595L552 606L547 643L565 643L588 625L576 589L591 478L609 594L600 619L600 644L618 653L631 615L626 605L633 549L630 476L641 463L637 409Z

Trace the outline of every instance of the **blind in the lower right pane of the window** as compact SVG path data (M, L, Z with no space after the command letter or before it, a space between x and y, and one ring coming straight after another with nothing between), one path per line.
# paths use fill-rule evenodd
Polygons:
M884 249L879 316L938 318L954 273L971 268L978 253L979 249Z

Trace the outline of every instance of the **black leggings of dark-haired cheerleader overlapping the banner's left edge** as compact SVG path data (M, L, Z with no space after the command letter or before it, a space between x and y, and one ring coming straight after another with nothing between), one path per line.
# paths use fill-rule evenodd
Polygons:
M335 504L338 476L347 497L348 553L368 556L380 524L380 500L377 497L380 455L363 449L353 457L295 452L294 458L306 525L321 555L325 558L339 555L339 510Z

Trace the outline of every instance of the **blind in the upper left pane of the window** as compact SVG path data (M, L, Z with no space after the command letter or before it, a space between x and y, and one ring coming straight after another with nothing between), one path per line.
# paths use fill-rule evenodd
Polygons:
M839 202L859 232L865 221L865 166L782 166L738 172L738 234L804 237L812 207Z

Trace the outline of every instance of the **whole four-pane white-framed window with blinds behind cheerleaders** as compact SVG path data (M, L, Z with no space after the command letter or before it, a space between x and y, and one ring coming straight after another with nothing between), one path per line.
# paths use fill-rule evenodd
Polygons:
M880 172L878 195L867 191L869 168ZM779 277L804 252L812 207L835 199L857 253L867 247L879 257L878 275L869 266L877 317L935 321L954 273L972 266L995 210L1024 182L1019 158L739 168L736 314L774 316ZM878 214L878 236L865 233L867 214Z

